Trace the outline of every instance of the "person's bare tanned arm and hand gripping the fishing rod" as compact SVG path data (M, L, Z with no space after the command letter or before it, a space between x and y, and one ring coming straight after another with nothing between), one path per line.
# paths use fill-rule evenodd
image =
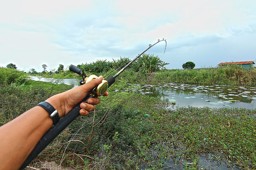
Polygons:
M82 101L88 92L102 81L102 76L82 86L52 96L46 100L60 117L65 116L77 103ZM104 96L107 96L108 92ZM90 98L88 103L81 103L81 115L88 115L100 103L99 98ZM84 106L83 106L84 105ZM18 169L30 152L52 127L53 121L49 113L36 106L11 122L0 127L0 169Z

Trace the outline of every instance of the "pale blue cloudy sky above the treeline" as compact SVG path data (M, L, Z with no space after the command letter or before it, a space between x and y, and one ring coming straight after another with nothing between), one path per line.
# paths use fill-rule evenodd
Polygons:
M256 60L255 0L8 0L0 6L0 66L37 72L59 64L146 53L182 68Z

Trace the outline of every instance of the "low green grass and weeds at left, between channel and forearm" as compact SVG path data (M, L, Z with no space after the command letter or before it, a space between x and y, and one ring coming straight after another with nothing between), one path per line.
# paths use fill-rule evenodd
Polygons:
M54 94L71 89L71 85L52 84L42 81L26 81L23 84L0 85L0 125L3 125L23 112L35 107Z

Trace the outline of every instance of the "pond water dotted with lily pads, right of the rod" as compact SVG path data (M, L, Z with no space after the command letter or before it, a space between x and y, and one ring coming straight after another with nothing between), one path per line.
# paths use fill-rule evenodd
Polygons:
M167 98L179 107L211 108L256 108L256 88L234 87L223 85L191 85L178 83L144 83L130 82L121 90L134 91L141 95Z

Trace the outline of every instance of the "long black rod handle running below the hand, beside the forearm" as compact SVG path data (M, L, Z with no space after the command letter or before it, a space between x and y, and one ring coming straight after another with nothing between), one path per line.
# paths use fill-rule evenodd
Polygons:
M56 138L61 131L63 131L73 120L76 119L80 115L80 104L82 102L87 103L87 100L89 98L98 97L95 96L86 96L84 100L79 102L72 110L68 112L68 114L60 119L60 121L51 127L49 131L47 131L44 136L39 140L39 142L36 144L36 147L33 149L33 151L28 155L28 158L25 160L25 162L22 164L19 170L24 169L28 164L36 158L36 156L44 150L44 148L49 145L54 138Z

